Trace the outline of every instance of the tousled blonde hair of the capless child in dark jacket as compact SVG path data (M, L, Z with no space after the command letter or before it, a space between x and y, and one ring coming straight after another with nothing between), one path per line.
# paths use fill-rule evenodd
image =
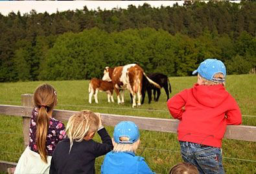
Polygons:
M73 141L81 142L88 133L96 132L99 128L99 117L93 111L82 110L72 115L67 122L66 133L70 140L70 148Z

